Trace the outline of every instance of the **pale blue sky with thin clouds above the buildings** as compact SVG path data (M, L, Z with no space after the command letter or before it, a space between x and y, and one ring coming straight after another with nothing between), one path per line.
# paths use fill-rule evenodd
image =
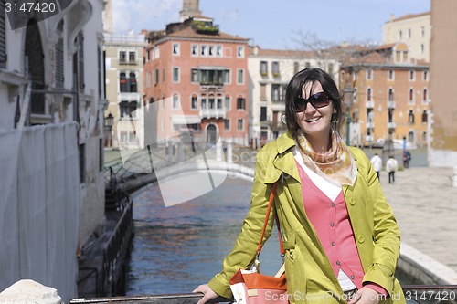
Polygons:
M179 22L183 0L112 0L113 31L140 34ZM250 45L296 49L302 33L339 44L382 43L382 26L395 17L430 11L431 0L200 0L203 16Z

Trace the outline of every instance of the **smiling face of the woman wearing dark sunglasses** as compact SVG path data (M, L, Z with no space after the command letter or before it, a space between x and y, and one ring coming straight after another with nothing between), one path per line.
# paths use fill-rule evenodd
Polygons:
M308 82L304 85L302 98L308 100L312 95L320 92L324 92L320 82ZM305 110L295 113L297 123L306 136L314 138L317 136L329 136L334 110L333 102L331 100L329 101L328 105L321 108L314 108L308 102Z

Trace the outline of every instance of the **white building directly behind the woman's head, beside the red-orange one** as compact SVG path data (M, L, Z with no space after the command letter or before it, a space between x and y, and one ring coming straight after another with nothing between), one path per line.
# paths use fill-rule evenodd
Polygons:
M338 83L339 63L316 58L313 52L250 47L250 144L260 148L287 131L282 122L289 81L303 68L323 68Z

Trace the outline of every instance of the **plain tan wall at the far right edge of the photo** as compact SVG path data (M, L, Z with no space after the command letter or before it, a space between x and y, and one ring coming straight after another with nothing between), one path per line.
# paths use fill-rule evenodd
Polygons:
M433 101L429 165L457 165L457 2L431 0L430 97Z

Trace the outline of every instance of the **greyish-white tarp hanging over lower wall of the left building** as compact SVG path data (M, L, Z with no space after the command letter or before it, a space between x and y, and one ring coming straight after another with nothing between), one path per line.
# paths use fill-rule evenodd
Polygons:
M77 294L77 124L0 131L0 290L30 278Z

